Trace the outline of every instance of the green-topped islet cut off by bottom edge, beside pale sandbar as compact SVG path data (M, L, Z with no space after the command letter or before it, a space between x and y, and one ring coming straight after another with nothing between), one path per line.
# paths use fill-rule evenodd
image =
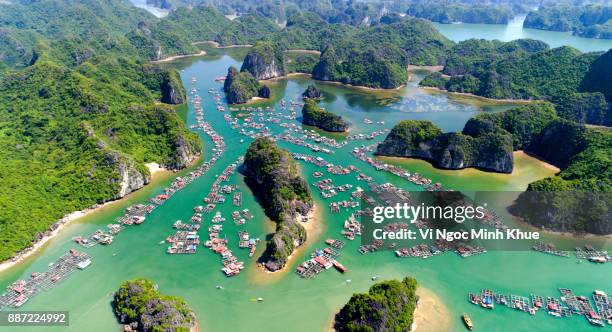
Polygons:
M334 329L352 331L409 331L418 296L417 281L388 280L374 284L367 293L353 294L336 314Z

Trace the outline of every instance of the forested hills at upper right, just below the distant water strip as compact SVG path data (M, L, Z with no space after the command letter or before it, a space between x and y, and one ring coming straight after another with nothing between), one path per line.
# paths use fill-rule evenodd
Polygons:
M610 123L612 52L582 54L571 47L548 49L540 41L502 43L471 39L448 51L442 73L425 77L421 86L471 93L493 99L543 99L565 119ZM580 92L601 92L600 94Z

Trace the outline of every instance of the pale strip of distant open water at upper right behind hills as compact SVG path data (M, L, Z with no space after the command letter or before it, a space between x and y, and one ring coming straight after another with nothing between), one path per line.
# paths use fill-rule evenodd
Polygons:
M498 39L511 41L520 38L537 39L546 42L550 47L572 46L582 52L607 51L612 48L610 39L593 39L572 36L569 32L524 29L525 16L517 16L507 25L504 24L440 24L436 28L446 38L462 41L470 38Z

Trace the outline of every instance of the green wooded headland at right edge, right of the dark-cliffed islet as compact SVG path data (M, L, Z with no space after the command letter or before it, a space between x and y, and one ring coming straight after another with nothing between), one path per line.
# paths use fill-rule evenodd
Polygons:
M558 119L540 134L533 150L554 158L563 170L529 184L514 213L551 230L612 234L612 132Z

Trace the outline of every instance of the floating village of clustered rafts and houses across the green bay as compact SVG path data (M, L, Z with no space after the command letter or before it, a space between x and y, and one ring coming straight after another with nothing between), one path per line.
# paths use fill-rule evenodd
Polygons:
M197 80L192 78L192 82ZM220 89L211 88L208 90L210 98L213 99L214 111L226 112L223 96ZM226 151L224 138L220 136L213 126L205 121L205 111L202 107L202 96L199 89L193 87L190 90L189 102L193 106L196 123L191 126L193 130L199 130L213 142L212 154L208 160L204 161L194 171L186 175L176 177L176 179L159 194L150 198L148 201L132 205L125 209L123 215L118 217L113 223L100 228L91 234L79 235L73 238L75 244L84 250L96 245L109 246L120 236L120 233L130 227L138 227L146 222L147 216L155 209L163 205L174 194L187 187L208 171L218 162ZM338 218L333 222L342 223L342 230L338 237L328 238L324 241L325 247L315 249L311 255L297 265L295 273L304 279L316 278L324 271L334 269L338 273L348 274L350 267L345 267L342 263L341 253L345 248L344 241L355 241L360 239L364 232L361 222L362 218L371 218L371 206L375 202L385 202L387 204L398 202L411 202L410 194L390 183L376 183L374 179L354 164L338 165L329 162L325 156L334 154L338 149L347 147L349 142L363 141L364 144L350 150L350 155L355 161L364 162L377 172L389 173L400 177L414 185L419 186L425 191L442 191L443 185L434 182L419 173L409 172L406 169L389 165L377 160L372 152L375 151L377 144L367 143L376 137L388 133L388 129L375 129L366 133L356 133L345 136L342 140L328 138L319 134L317 131L307 129L297 121L298 111L303 103L293 100L281 100L276 107L229 107L229 112L223 118L225 122L234 130L237 135L248 138L269 137L273 141L282 141L290 145L299 146L309 153L291 152L292 157L301 163L315 165L318 170L309 174L312 181L309 181L311 188L317 192L322 200L326 200L329 211L332 214L346 212L348 218ZM211 112L207 110L206 112ZM382 122L373 122L365 119L367 126L377 126ZM273 130L276 128L277 130ZM280 129L280 133L279 132ZM276 134L275 134L276 132ZM244 143L244 139L240 142ZM233 222L237 227L247 223L255 222L254 215L249 209L242 207L243 188L232 184L232 177L235 177L237 169L243 162L239 157L229 165L221 174L214 177L214 182L209 188L208 193L202 198L199 205L193 207L193 214L187 220L168 220L168 236L160 242L165 247L167 254L196 254L199 248L207 248L220 258L219 268L221 273L227 277L238 276L245 268L245 262L241 261L234 254L234 250L248 251L249 257L254 257L256 250L260 246L265 246L262 240L252 236L245 229L238 228L238 231L230 234L224 225ZM363 185L353 185L341 183L343 176L354 178ZM364 189L365 188L365 189ZM247 189L248 190L248 189ZM339 198L345 197L345 198ZM230 214L224 215L219 211L221 206L233 207ZM493 211L487 211L484 218L478 220L486 227L495 229L505 229L505 225L500 217ZM232 226L233 227L233 226ZM385 230L395 231L406 227L429 228L432 225L426 220L419 220L412 226L406 223L393 223L385 225ZM207 234L201 233L207 230ZM233 248L233 249L232 249ZM403 247L397 243L386 243L375 240L369 244L361 244L358 248L361 254L369 254L382 249L388 250L389 254L394 254L398 258L421 258L427 259L444 253L456 253L459 257L468 258L475 255L487 253L484 247L461 241L436 240L432 243L420 243L410 247ZM570 257L570 252L556 249L553 244L535 242L532 249L536 252L546 253L559 257ZM592 263L612 262L612 257L606 251L599 251L591 246L577 247L575 256L580 260ZM0 296L0 310L18 308L28 299L35 296L40 291L48 291L57 283L65 280L72 272L83 270L91 264L91 257L84 252L71 250L57 261L49 264L47 271L37 273L32 272L27 280L18 280L9 286L6 293ZM373 277L374 278L374 277ZM347 281L350 279L347 279ZM374 280L374 279L373 279ZM218 286L219 288L221 286ZM483 308L493 309L494 306L506 306L511 309L524 311L529 314L536 314L540 309L547 311L556 317L571 317L572 315L584 316L593 325L603 326L612 324L612 298L602 291L593 293L593 303L585 296L577 296L569 289L560 289L561 297L540 297L530 295L523 297L518 295L502 295L491 290L482 290L480 294L470 293L468 299L471 303Z

